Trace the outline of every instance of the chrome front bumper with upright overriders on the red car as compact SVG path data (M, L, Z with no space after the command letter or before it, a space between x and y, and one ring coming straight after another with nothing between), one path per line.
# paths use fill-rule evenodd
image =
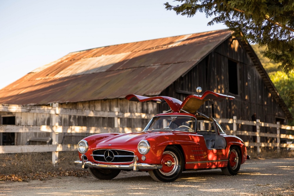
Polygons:
M154 170L161 169L162 165L159 164L148 164L148 163L137 163L138 157L134 156L133 163L130 165L108 165L108 164L100 164L100 163L92 163L91 161L85 161L84 156L81 155L81 161L75 161L74 163L82 164L82 168L86 169L90 168L104 168L104 169L121 169L121 170Z

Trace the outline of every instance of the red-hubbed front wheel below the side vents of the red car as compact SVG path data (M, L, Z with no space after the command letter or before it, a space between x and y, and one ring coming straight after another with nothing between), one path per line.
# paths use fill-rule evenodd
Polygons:
M183 172L184 158L181 151L174 147L167 147L161 159L162 168L148 171L149 175L156 182L173 182Z

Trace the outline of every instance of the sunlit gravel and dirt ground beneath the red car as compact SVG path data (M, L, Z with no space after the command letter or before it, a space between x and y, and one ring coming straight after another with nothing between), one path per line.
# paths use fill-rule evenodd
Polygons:
M112 180L65 176L1 181L0 195L294 195L294 158L247 160L236 176L225 176L220 169L183 172L171 183L133 171Z

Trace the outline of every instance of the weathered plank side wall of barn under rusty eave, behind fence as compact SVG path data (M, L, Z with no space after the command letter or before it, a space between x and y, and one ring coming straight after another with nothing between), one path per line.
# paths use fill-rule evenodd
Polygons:
M49 106L49 105L48 105ZM121 111L123 113L148 113L157 114L158 104L137 103L124 98L84 101L78 103L59 103L61 108L97 110L97 111ZM52 125L52 114L36 113L1 113L1 115L14 115L16 125ZM150 119L120 118L120 127L145 128ZM62 126L87 126L87 127L115 127L113 117L91 117L77 115L59 115L59 125ZM89 133L61 133L60 143L76 144L88 136ZM16 133L16 145L24 145L30 138L47 138L50 133Z

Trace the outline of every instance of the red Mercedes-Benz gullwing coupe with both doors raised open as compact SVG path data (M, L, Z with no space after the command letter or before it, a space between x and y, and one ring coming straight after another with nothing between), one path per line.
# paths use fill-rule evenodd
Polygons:
M116 177L121 170L146 171L157 182L172 182L183 171L221 169L236 175L250 157L244 142L226 135L216 120L197 110L208 100L234 97L212 91L178 99L128 95L137 102L167 103L169 111L155 115L142 132L100 133L78 143L82 168L101 180Z

